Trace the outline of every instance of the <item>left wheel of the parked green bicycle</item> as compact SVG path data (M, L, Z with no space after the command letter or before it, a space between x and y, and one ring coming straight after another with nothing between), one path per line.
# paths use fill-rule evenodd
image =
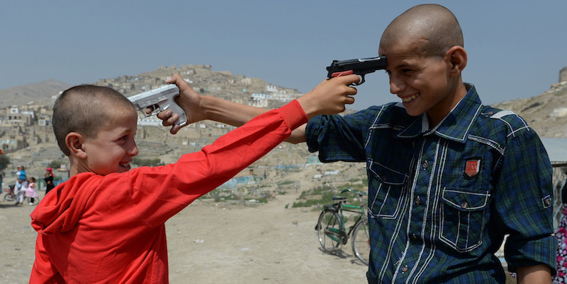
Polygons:
M332 209L324 209L319 216L317 232L324 252L333 252L340 244L341 223L339 214Z

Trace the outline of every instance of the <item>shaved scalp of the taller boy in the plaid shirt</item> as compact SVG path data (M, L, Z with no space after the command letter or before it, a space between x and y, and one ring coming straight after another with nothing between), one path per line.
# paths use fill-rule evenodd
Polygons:
M451 47L464 47L461 25L444 6L423 4L410 8L395 18L384 30L381 47L417 45L425 56L442 56Z

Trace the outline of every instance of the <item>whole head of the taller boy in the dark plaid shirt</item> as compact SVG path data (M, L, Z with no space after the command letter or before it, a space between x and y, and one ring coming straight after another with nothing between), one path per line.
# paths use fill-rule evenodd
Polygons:
M384 30L378 54L388 58L390 92L400 97L408 114L427 112L434 126L466 95L463 45L459 22L436 4L410 8Z

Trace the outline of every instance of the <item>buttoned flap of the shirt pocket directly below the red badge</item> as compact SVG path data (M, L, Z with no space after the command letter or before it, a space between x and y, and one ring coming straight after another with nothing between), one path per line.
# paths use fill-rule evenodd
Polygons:
M443 202L459 211L482 210L488 204L488 191L471 192L461 189L443 189Z

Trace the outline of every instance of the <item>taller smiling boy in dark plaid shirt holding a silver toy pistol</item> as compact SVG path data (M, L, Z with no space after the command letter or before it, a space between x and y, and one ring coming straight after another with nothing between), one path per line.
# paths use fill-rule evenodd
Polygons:
M400 102L315 117L288 139L306 141L322 162L366 162L369 283L505 283L495 256L505 235L519 283L551 283L551 163L524 119L482 105L463 82L468 57L454 14L410 8L384 30L378 55ZM193 118L235 126L264 111L193 101ZM158 116L164 125L175 122L168 114Z

